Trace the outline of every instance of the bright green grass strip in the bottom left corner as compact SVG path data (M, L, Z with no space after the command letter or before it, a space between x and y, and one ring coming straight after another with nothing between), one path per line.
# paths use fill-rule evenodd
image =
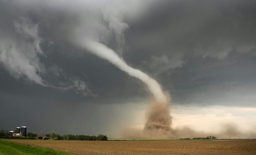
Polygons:
M22 145L18 143L0 140L0 155L12 154L58 154L58 155L71 155L71 153L56 151L50 148L38 148L34 146Z

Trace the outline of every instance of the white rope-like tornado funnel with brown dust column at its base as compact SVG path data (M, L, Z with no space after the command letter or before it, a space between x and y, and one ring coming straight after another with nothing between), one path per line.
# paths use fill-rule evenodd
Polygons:
M126 72L128 75L136 77L144 82L152 95L154 100L152 101L150 108L146 112L146 124L144 132L148 134L160 133L166 134L171 128L172 119L169 113L169 99L168 94L164 94L162 88L156 80L152 79L146 73L130 67L121 57L118 56L112 49L107 46L93 40L85 40L83 47L90 53L107 60L120 70Z

